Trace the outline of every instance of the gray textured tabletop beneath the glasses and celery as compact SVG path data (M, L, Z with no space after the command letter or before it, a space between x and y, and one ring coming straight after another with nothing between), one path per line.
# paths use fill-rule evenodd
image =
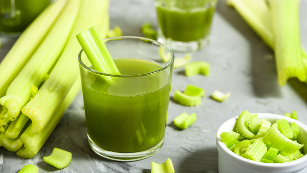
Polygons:
M301 43L307 49L307 2L301 1ZM110 0L111 28L119 25L124 35L142 36L144 22L156 27L153 0ZM15 39L1 37L0 60ZM176 57L182 53L175 53ZM150 173L150 162L173 161L176 172L218 172L216 131L229 118L242 111L267 112L283 115L295 109L298 120L307 124L307 86L290 80L278 86L273 52L247 26L243 19L219 0L214 15L210 44L192 53L192 61L211 64L210 76L185 77L184 69L175 69L169 103L165 143L156 155L135 162L108 161L91 151L87 144L83 101L79 94L64 114L41 151L31 159L20 159L14 152L0 147L0 172L17 173L25 164L34 164L39 172L140 172ZM202 87L206 95L196 107L185 107L173 101L175 89L184 90L187 84ZM223 103L210 98L219 89L231 92ZM172 120L182 112L195 112L196 122L180 131ZM46 164L42 157L50 155L53 147L72 152L70 165L58 170Z

